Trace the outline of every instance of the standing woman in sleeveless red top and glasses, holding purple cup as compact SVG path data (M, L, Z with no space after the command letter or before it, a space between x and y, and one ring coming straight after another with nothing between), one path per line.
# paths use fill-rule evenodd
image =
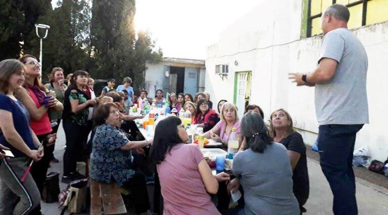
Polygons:
M49 91L42 85L39 80L40 64L36 57L25 54L20 57L19 60L26 66L26 83L24 88L27 90L30 99L28 99L23 89L19 92L19 95L21 97L22 103L27 107L28 111L32 113L30 127L38 137L39 141L43 144L44 156L40 161L34 162L31 167L31 175L34 178L40 194L42 194L44 181L46 180L47 169L49 169L49 164L52 160L54 151L54 145L47 145L46 141L49 134L53 130L47 111L49 108L62 110L63 105L55 98L55 94L52 96L51 100L44 99L46 93L49 93ZM33 103L31 103L31 100ZM41 214L40 205L32 210L30 214Z

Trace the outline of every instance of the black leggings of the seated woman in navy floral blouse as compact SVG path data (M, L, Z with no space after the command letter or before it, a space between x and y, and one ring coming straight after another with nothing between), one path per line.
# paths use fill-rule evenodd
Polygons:
M147 212L150 206L148 198L146 177L142 173L136 172L133 177L124 184L124 187L132 190L132 201L135 206L135 213Z

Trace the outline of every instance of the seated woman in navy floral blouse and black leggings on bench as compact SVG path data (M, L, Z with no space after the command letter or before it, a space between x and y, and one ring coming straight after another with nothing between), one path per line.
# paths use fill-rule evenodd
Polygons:
M132 167L131 150L149 146L151 142L129 141L117 126L120 113L114 103L101 105L94 114L96 126L90 154L89 177L102 183L117 182L119 187L129 187L137 214L148 214L150 202L146 178Z

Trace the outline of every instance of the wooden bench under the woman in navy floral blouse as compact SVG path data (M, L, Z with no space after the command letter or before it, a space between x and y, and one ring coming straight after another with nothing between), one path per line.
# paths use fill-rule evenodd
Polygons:
M126 213L117 183L104 184L90 179L90 214Z

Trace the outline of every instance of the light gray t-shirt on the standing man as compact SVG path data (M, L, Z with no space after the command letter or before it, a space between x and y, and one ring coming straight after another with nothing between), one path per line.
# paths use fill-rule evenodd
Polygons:
M346 28L323 37L318 63L322 58L338 62L334 76L315 84L315 111L319 125L369 123L366 96L368 57L364 46Z

